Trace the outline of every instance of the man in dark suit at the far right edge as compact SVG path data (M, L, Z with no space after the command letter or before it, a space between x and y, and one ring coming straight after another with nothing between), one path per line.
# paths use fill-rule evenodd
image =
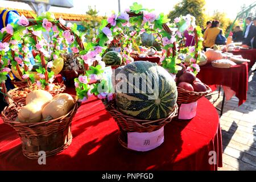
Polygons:
M246 29L245 33L243 34L243 45L247 45L251 47L251 44L253 43L252 39L254 37L254 31L255 31L255 26L253 25L253 22L251 20L251 17L246 18Z

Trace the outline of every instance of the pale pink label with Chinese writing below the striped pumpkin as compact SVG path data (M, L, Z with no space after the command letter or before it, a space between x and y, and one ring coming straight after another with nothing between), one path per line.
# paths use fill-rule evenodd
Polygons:
M149 151L164 142L164 127L151 133L127 133L127 147L136 151Z

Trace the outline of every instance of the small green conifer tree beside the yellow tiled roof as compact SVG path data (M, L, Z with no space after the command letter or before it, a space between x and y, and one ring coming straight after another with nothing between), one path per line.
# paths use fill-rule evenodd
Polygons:
M98 11L96 6L92 9L91 6L88 6L88 11L86 11L87 18L82 22L82 26L85 27L85 38L90 42L94 37L96 37L97 30L100 27L102 16L98 16Z

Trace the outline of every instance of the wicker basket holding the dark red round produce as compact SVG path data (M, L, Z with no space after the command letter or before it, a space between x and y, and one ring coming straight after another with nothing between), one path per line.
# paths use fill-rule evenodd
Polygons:
M212 90L209 88L208 85L206 85L206 84L204 84L204 85L207 88L207 91L205 91L205 92L191 92L191 91L185 90L183 88L177 87L177 92L178 92L177 105L179 106L179 109L178 109L178 114L174 119L180 120L180 121L189 120L189 119L179 119L180 106L181 106L181 104L190 104L192 102L196 102L201 97L204 97L207 94L209 94L210 92L212 92Z

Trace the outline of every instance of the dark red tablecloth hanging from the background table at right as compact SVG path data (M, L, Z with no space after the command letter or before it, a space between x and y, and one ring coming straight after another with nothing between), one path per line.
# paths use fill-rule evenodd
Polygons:
M211 64L200 67L197 77L207 85L224 85L236 92L242 105L247 99L248 64L237 64L231 68L215 68Z

